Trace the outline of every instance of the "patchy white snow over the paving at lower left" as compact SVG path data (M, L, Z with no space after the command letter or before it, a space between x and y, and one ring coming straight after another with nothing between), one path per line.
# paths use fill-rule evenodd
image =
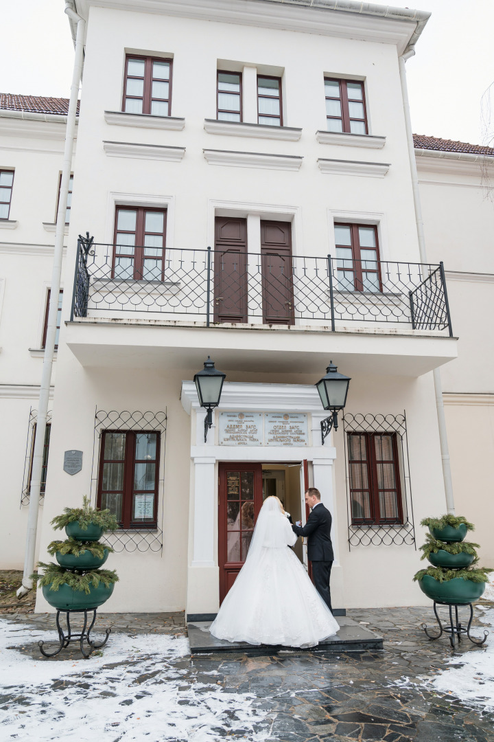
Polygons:
M268 738L269 724L259 727L266 712L252 708L253 695L224 692L216 671L210 683L194 682L187 639L112 634L104 656L63 662L7 649L40 639L56 640L56 633L0 620L5 741L214 742L225 730L249 742Z

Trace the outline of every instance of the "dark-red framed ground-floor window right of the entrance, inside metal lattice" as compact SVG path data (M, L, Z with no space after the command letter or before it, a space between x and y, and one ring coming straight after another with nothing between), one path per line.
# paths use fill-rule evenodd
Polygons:
M403 522L396 433L348 433L352 522Z

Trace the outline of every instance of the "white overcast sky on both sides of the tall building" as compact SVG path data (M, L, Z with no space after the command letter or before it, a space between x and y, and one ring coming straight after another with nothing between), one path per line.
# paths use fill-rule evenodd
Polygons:
M494 81L494 0L390 4L433 13L407 62L415 134L484 143L481 99ZM0 92L67 98L73 45L63 0L0 0L0 13ZM491 91L494 119L494 85Z

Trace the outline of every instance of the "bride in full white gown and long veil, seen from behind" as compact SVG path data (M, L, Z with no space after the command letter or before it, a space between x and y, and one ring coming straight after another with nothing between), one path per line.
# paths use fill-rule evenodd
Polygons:
M245 564L211 624L213 637L309 647L336 634L333 614L288 548L296 540L279 499L267 497Z

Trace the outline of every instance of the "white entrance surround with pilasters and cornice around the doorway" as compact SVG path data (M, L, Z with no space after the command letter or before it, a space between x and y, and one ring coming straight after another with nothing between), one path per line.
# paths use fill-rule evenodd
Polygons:
M333 514L333 545L335 563L333 565L331 588L333 605L343 607L343 580L338 554L338 513L334 496L333 462L336 450L328 438L321 443L321 420L327 413L321 409L321 400L316 387L298 384L245 384L225 382L221 402L213 427L204 443L205 411L198 403L196 386L193 381L183 381L181 403L190 415L190 509L189 509L189 549L187 568L187 608L189 617L216 614L220 603L218 566L218 464L220 462L258 462L279 464L302 464L307 462L310 486L321 491L324 505ZM244 440L225 442L220 435L219 416L222 412L258 413L259 429L262 435L245 444ZM280 436L277 442L273 436L265 435L267 416L270 413L283 413L298 416L307 422L307 433L296 436ZM273 416L271 415L270 418ZM303 467L301 467L303 476ZM301 481L301 497L305 488ZM302 521L305 509L301 508Z

